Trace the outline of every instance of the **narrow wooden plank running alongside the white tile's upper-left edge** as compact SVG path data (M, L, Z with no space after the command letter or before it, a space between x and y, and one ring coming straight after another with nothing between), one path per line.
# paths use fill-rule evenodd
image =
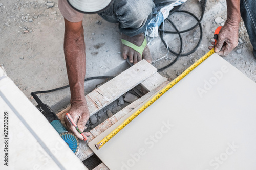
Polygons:
M110 117L109 119L105 120L104 122L102 122L100 125L98 125L94 129L92 129L90 131L91 135L88 138L88 141L90 142L92 139L94 139L95 137L100 135L102 132L104 132L106 129L108 129L113 124L115 124L119 119L121 119L127 113L130 113L131 111L134 110L134 108L139 106L144 101L148 100L153 94L155 94L160 89L165 87L168 83L169 83L168 81L162 83L161 86L159 86L159 87L155 88L154 90L148 92L147 94L142 96L140 99L138 99L135 102L131 103L130 105L126 106L125 108L120 110L118 113L114 114L112 117ZM92 156L94 154L94 152L83 141L80 141L79 151L80 151L80 154L78 155L78 158L81 161L86 160L87 158L89 158L90 156Z

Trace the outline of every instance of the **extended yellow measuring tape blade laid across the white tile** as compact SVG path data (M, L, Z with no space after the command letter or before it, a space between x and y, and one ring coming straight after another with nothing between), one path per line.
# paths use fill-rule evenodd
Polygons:
M187 68L180 76L170 82L167 86L165 86L159 93L157 93L150 101L147 101L145 105L141 106L137 111L135 111L130 117L128 117L124 122L119 125L115 130L113 130L110 134L108 134L104 139L102 139L99 143L95 144L97 149L100 149L106 142L108 142L112 137L114 137L120 130L122 130L126 125L128 125L135 117L137 117L141 112L143 112L148 106L158 100L166 91L172 88L175 84L177 84L181 79L183 79L186 75L189 74L193 69L195 69L199 64L201 64L204 60L214 54L214 48L212 48L208 53L206 53L203 57L201 57L197 62Z

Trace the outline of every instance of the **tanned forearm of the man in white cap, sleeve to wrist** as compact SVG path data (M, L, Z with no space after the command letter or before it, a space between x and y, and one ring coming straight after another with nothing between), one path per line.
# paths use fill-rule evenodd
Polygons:
M71 91L71 104L84 102L84 77L86 74L86 53L83 28L65 30L64 53Z

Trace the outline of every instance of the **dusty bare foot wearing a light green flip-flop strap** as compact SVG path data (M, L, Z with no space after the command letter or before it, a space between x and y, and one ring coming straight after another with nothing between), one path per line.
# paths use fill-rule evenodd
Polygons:
M140 46L142 42L145 39L144 33L141 33L139 35L129 37L127 35L122 34L122 39L129 41L137 46ZM151 63L151 55L150 55L150 49L146 45L144 48L144 51L142 53L143 59L145 59L147 62ZM132 48L122 44L122 57L124 60L126 58L129 58L129 61L133 64L136 64L137 62L142 60L142 57L139 52L133 50Z

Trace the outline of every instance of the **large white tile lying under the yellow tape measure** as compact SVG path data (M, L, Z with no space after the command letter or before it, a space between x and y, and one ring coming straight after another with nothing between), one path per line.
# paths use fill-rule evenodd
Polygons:
M110 169L256 169L255 98L256 84L214 54L102 148L125 117L89 146Z

